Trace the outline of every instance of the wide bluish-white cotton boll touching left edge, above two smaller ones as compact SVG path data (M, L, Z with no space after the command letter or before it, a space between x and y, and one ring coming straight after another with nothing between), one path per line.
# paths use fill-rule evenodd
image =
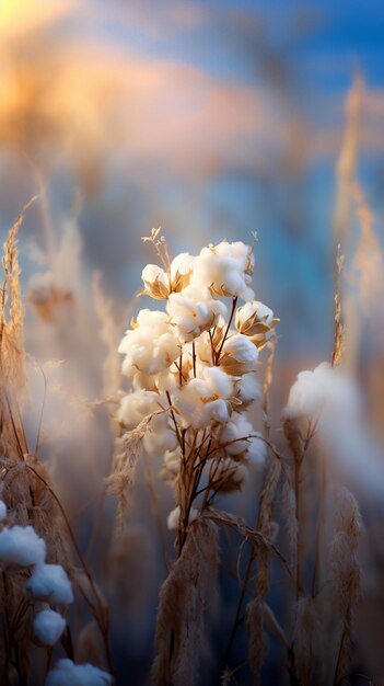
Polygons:
M45 559L45 541L32 526L11 526L0 531L0 563L39 564Z

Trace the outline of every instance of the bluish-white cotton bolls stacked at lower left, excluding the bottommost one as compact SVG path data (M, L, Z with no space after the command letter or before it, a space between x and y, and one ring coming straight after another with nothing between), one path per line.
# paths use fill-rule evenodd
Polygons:
M1 519L7 506L0 501ZM26 590L33 601L50 604L69 604L73 601L71 583L60 564L46 564L46 545L32 526L5 526L0 531L0 565L32 567ZM54 645L61 637L66 620L60 613L48 607L38 611L33 620L35 638L44 645Z

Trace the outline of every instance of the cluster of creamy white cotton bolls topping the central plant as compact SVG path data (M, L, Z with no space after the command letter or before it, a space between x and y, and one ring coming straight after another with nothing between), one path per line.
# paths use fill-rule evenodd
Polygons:
M234 490L247 467L265 459L246 412L260 397L259 350L278 321L254 299L253 248L222 241L171 260L159 230L147 240L162 265L143 270L143 293L164 300L164 308L140 310L120 343L132 389L118 420L131 431L152 415L143 447L164 456L162 476L170 482L176 483L182 460L191 460L216 492ZM170 528L178 513L171 513Z

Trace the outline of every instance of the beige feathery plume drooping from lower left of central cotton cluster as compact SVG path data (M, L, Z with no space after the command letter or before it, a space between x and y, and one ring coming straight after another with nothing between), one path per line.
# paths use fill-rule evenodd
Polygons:
M132 431L116 439L113 470L107 478L108 493L117 496L117 515L120 525L129 504L129 493L135 482L136 466L143 450L142 439L150 428L153 414L144 419Z

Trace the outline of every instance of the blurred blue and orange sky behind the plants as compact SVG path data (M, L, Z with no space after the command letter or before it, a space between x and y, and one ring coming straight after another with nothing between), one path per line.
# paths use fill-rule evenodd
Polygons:
M121 306L152 226L190 252L257 231L257 296L284 313L284 356L328 354L335 169L357 75L359 179L383 211L380 0L3 0L0 37L2 232L42 184L57 236L79 206L84 267ZM47 240L30 214L22 251L36 261Z

